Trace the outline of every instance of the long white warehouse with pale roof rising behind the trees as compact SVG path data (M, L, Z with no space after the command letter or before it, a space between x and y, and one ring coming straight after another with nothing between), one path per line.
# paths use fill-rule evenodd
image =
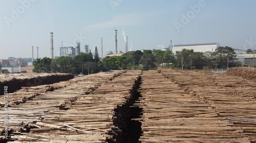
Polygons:
M194 52L214 52L218 47L220 47L219 43L174 45L173 53L176 54L176 51L182 51L182 49L194 49Z

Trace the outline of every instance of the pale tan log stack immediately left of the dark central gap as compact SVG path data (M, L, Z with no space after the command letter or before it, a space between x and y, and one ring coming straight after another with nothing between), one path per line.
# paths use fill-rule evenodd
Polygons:
M13 133L11 140L55 143L122 140L122 124L126 123L116 119L121 112L127 110L124 106L129 104L131 90L140 73L141 71L130 71L115 78L98 78L98 81L93 79L96 74L89 80L77 81L16 105L22 109L27 108L27 114L15 115L18 117L16 122L23 121L23 127L19 132ZM101 80L100 86L88 92L88 88L92 89L92 84ZM91 86L87 87L88 85ZM46 109L48 110L45 111ZM123 118L125 117L122 116L121 119Z

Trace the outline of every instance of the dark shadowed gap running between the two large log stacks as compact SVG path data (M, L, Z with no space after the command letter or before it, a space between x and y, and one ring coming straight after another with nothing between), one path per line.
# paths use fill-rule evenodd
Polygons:
M142 109L136 106L136 101L141 97L139 88L141 85L141 75L135 81L131 90L130 98L126 99L125 104L117 106L114 115L114 127L109 134L112 139L107 139L109 143L121 142L139 142L141 136L141 122L137 119L142 117ZM121 123L121 124L120 124Z

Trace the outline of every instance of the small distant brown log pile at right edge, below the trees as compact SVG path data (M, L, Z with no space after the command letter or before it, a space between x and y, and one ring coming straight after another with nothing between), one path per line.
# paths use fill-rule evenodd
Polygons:
M229 68L226 74L256 80L256 70L251 68Z

